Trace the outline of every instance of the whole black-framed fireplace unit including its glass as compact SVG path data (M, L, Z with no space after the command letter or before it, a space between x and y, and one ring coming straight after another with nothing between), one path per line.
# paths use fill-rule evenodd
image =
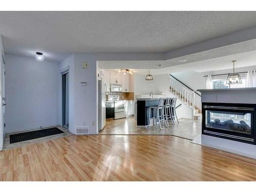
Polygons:
M202 134L256 144L256 104L202 103Z

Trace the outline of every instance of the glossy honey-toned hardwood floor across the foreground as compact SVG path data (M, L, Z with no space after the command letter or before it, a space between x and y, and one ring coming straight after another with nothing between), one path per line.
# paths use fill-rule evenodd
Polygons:
M255 181L256 160L174 136L69 136L0 152L1 181Z

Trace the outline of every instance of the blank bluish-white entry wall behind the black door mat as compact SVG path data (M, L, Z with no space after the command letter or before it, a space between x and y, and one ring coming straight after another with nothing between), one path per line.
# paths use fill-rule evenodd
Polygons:
M59 66L6 54L6 132L59 124Z

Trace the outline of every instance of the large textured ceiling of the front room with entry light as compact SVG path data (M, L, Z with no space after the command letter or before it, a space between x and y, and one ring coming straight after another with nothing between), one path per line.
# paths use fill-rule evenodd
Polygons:
M256 26L256 12L0 12L7 53L167 52Z

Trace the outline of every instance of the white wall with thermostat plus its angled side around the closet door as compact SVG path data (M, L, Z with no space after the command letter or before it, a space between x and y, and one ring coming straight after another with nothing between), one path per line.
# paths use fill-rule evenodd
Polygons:
M88 63L82 69L82 62ZM89 127L89 134L97 134L97 65L94 54L73 54L60 63L60 72L69 67L69 131ZM87 86L80 86L80 82ZM60 95L61 96L61 95ZM61 112L61 108L60 108Z

